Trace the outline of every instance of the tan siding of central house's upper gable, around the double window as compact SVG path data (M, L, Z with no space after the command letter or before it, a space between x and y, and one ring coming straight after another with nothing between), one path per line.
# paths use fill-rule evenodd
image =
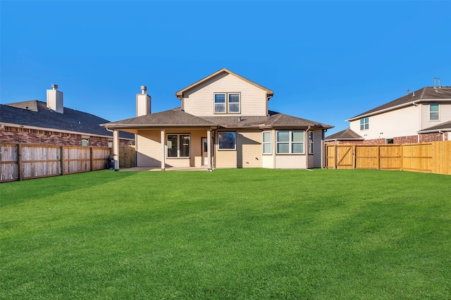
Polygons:
M240 93L240 114L266 115L266 92L227 73L203 82L184 94L183 109L198 116L227 115L214 113L215 93ZM229 114L230 115L230 114Z

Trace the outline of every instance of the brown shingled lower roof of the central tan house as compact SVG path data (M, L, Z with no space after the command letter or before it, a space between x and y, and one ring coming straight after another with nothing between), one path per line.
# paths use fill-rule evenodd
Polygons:
M269 111L266 116L214 116L197 117L185 113L180 108L169 111L141 115L117 122L102 124L107 128L142 128L142 127L223 127L223 128L271 128L271 127L317 127L328 129L333 126L311 120Z

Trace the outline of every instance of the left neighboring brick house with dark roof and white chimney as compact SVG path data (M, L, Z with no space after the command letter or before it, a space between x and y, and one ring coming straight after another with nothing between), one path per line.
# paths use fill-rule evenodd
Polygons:
M108 120L63 107L57 85L47 90L47 103L38 100L0 104L0 142L58 146L111 147L113 133L99 124ZM121 132L119 144L135 144L135 135Z

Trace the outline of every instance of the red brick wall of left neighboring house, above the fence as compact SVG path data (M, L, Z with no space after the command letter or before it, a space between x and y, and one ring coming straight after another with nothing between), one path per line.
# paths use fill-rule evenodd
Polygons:
M5 126L3 130L0 130L0 142L81 146L82 136L72 133ZM89 137L89 146L108 147L108 142L108 137ZM130 142L135 144L134 141L128 139L119 139L121 146L129 145Z

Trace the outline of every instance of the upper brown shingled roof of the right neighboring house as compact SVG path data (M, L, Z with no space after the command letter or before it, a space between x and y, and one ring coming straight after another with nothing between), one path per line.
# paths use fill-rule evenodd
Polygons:
M415 103L443 100L451 101L451 87L423 87L415 92L356 115L347 121L356 120L368 115L376 115L377 113L383 113L385 111L390 111L395 108L400 108Z

